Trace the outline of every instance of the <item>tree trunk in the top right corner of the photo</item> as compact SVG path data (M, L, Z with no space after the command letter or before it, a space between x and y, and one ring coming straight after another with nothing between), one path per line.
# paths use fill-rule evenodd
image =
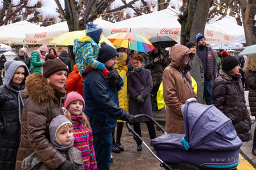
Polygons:
M254 16L256 15L256 0L241 0L240 2L246 46L255 45L256 27Z

